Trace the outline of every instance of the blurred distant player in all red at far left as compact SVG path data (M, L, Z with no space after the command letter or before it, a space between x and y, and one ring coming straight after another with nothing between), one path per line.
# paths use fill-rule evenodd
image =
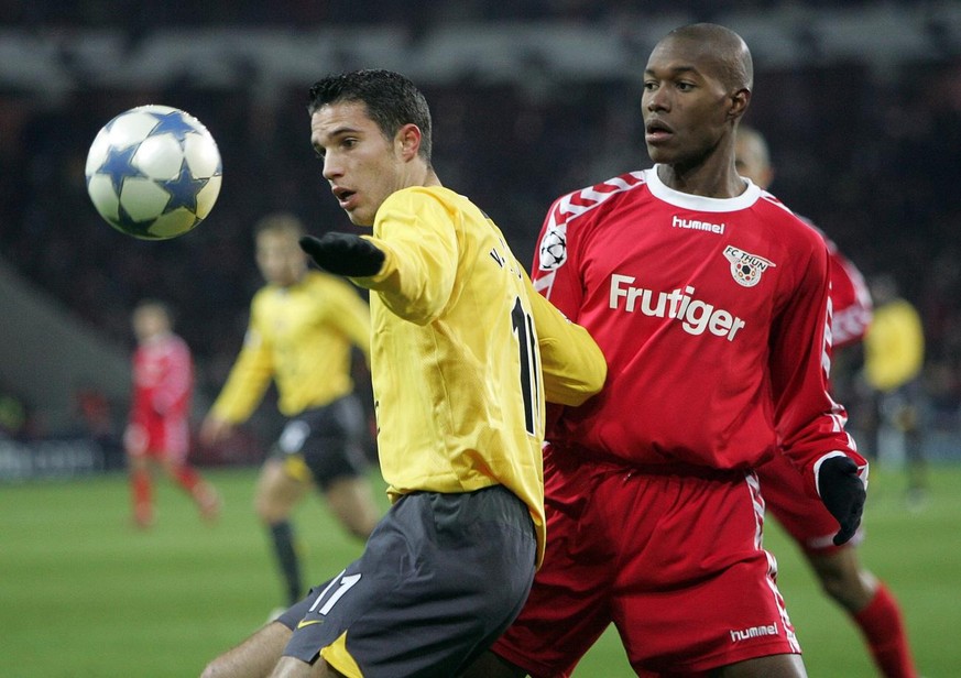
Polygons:
M153 524L151 460L187 491L207 520L217 517L220 497L187 463L194 363L186 342L173 332L167 306L145 299L133 309L133 395L123 447L130 471L133 521Z

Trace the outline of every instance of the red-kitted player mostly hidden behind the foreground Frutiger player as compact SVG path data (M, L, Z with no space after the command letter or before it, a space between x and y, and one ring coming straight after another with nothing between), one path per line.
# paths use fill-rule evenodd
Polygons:
M734 153L739 174L766 190L774 178L774 167L761 133L742 124ZM833 360L840 350L864 338L871 322L872 303L861 272L833 241L820 230L818 233L825 239L830 255ZM767 510L798 544L823 591L861 630L882 674L887 678L917 676L898 602L858 557L862 531L847 544L834 545L831 537L837 522L821 502L805 494L804 478L784 455L760 467L757 475Z

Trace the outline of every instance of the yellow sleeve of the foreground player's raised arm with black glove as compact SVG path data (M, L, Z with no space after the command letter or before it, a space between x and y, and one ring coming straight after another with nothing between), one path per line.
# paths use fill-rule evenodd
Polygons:
M362 236L384 253L384 264L376 275L351 280L378 292L401 318L429 324L447 306L454 289L457 234L452 219L429 193L411 188L393 194L378 210L374 234Z

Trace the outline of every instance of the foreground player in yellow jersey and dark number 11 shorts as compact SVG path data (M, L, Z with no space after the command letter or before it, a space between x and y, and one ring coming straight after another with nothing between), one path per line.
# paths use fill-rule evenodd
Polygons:
M371 289L381 470L393 502L360 559L205 677L457 676L523 605L545 544L545 396L600 390L588 333L537 295L500 229L434 172L407 78L310 89L324 177L373 236L302 242ZM286 648L285 648L286 646Z

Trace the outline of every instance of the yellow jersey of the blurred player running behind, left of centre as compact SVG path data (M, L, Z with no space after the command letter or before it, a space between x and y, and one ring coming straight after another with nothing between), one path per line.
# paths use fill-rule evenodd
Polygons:
M346 281L307 271L288 287L266 285L251 302L243 347L212 413L247 420L271 380L286 416L342 397L353 390L352 346L370 361L370 308Z

